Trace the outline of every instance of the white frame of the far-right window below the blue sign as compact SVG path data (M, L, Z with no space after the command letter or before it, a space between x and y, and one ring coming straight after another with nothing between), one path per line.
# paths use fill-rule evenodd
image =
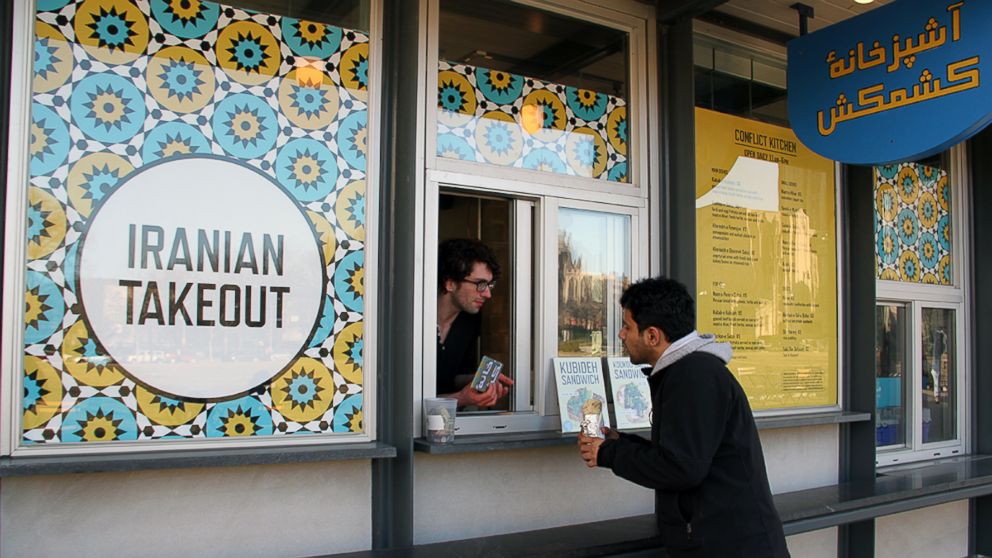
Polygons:
M968 293L971 292L970 273L971 230L970 215L966 211L970 207L971 179L967 169L967 149L959 144L949 150L947 157L948 179L951 188L951 262L954 276L953 285L925 285L922 283L907 283L893 280L875 280L876 306L882 304L900 304L906 308L906 335L908 354L907 361L912 363L906 367L906 373L911 375L911 386L904 388L906 397L906 432L905 446L876 447L876 466L910 463L926 459L964 455L971 452L972 424L972 316L971 305L968 303ZM873 186L874 187L874 186ZM877 264L876 264L877 265ZM955 311L955 373L957 374L955 397L957 409L957 437L953 440L930 442L923 444L923 428L919 425L922 417L922 374L923 354L921 338L923 335L923 308L941 308ZM876 371L877 374L877 371ZM907 382L910 384L910 382Z

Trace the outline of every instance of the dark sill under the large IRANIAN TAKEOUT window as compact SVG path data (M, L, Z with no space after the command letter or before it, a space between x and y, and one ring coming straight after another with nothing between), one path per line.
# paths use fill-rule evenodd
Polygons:
M200 467L283 465L396 457L396 448L379 442L294 447L130 452L0 458L0 478L67 473L108 473Z

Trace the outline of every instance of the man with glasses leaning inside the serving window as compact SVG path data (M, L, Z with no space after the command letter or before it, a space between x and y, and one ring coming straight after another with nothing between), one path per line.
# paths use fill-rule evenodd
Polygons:
M479 311L493 296L499 263L492 249L475 239L453 238L441 243L437 255L437 394L458 399L458 407L496 405L513 380L505 374L485 391L471 385L475 372L475 342Z

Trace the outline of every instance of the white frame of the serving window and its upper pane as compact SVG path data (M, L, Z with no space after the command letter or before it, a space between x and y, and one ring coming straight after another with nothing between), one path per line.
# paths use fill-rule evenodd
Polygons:
M529 340L518 336L519 346L530 342L531 368L538 374L534 382L531 411L480 413L458 417L456 431L459 435L533 432L558 430L558 402L554 387L552 357L557 356L557 208L559 204L577 209L604 211L604 208L622 208L633 214L631 239L644 239L631 246L631 280L657 273L660 262L660 225L658 183L659 172L652 146L659 145L657 111L649 107L650 99L657 99L657 60L654 41L653 8L630 0L615 0L609 8L582 3L568 5L564 0L512 0L517 4L546 10L555 14L589 21L628 33L629 96L627 99L630 120L628 160L630 182L615 183L603 179L568 176L558 173L500 167L488 163L458 161L437 156L437 73L439 33L439 0L420 0L421 14L426 23L421 26L420 75L422 86L418 94L417 116L419 130L417 159L422 161L423 172L418 173L417 196L417 261L422 262L422 273L415 278L417 297L414 339L420 340L413 348L415 362L421 363L419 377L415 376L414 435L423 435L423 400L432 397L435 390L435 346L437 327L437 244L438 200L442 189L459 190L478 195L497 195L509 199L528 200L534 203L532 228L532 324ZM636 158L636 160L634 160ZM637 229L635 230L635 227ZM520 268L518 266L518 273ZM530 279L531 277L528 277ZM518 281L517 285L523 284ZM549 294L554 286L553 296ZM515 318L517 319L517 318ZM542 329L543 328L543 329ZM550 331L547 331L550 328ZM542 333L543 332L543 333ZM519 359L518 359L519 360ZM544 361L547 362L544 362ZM416 381L416 380L420 381ZM519 382L519 380L518 380ZM519 395L518 395L519 397Z

